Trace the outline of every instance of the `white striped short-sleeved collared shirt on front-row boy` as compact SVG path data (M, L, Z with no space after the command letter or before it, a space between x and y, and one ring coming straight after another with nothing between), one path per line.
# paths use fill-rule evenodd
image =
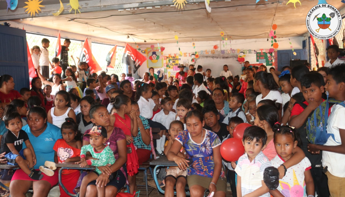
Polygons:
M271 166L271 162L260 151L255 159L250 162L247 153L238 159L235 172L241 177L241 191L242 196L249 194L262 186L264 180L264 170ZM262 197L270 197L269 193L262 195Z

